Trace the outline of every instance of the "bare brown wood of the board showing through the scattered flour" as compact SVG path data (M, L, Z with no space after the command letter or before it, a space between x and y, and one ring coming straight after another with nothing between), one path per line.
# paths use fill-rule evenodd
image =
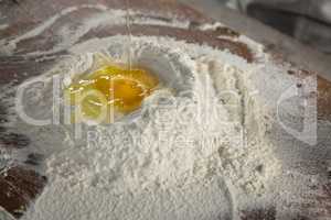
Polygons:
M19 3L18 3L19 2ZM0 30L0 41L4 38L12 38L18 35L22 35L29 30L34 29L41 22L50 19L61 10L67 9L72 6L95 4L99 3L114 9L124 9L122 0L23 0L23 1L1 1L0 14L2 16L1 22L8 26ZM233 54L242 56L247 62L254 63L254 56L252 55L249 47L242 43L218 38L220 35L236 37L238 34L229 29L221 28L215 31L201 31L196 28L203 23L213 22L202 13L196 12L190 8L178 4L175 1L151 1L151 0L131 0L130 8L141 11L141 15L157 16L162 21L171 22L173 16L182 20L190 21L189 29L180 29L175 26L160 26L160 25L132 25L134 35L167 35L179 40L185 40L195 44L209 44L218 50L228 50ZM13 53L8 53L7 50L0 48L0 86L8 82L18 84L31 76L40 75L54 65L54 63L68 54L67 47L57 51L54 54L43 56L24 56L28 53L35 51L51 50L56 43L54 33L61 28L61 23L75 24L79 22L79 19L96 13L98 10L95 8L85 8L73 13L68 13L63 16L58 22L54 23L50 29L41 32L39 35L29 37L18 42ZM151 13L153 12L153 13ZM226 22L224 22L226 23ZM1 23L0 23L1 24ZM86 41L95 36L109 36L118 33L125 33L126 26L104 26L95 29L84 34L79 41ZM41 62L42 59L42 62ZM275 54L275 62L282 62L282 58ZM298 77L307 74L313 74L302 72L298 68L293 68L292 72L288 72L290 75L297 75ZM318 110L321 119L330 119L331 117L331 84L319 77L318 79L319 92L318 92ZM1 100L0 100L1 102ZM0 103L1 107L1 103ZM6 121L6 108L0 108L0 119ZM1 127L1 124L0 124ZM8 133L4 128L0 128L0 143L1 147L8 148L26 148L29 147L29 139L22 134ZM38 152L35 153L38 155ZM41 163L40 156L31 155L26 158L29 167L38 166ZM28 167L28 165L26 165ZM38 174L34 169L28 169L26 167L15 166L11 167L9 172L0 174L0 206L4 207L15 217L20 217L21 212L15 210L21 209L23 206L29 206L29 201L38 197L42 191L43 186L46 184L46 177L42 174ZM14 185L14 189L11 189L8 184ZM331 186L323 186L324 199L322 202L329 202L331 198ZM11 196L8 196L8 191L14 191ZM24 209L24 208L23 208ZM328 213L327 213L328 215ZM331 213L330 213L331 215ZM276 210L274 208L261 208L257 210L243 210L243 219L275 219ZM302 217L305 218L305 217Z

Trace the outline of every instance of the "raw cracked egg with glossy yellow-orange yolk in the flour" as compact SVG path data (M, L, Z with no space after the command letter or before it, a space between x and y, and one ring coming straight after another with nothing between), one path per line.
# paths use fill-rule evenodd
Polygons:
M65 95L72 106L79 107L83 117L93 120L104 113L109 121L113 111L127 114L137 110L158 84L146 69L108 65L74 79Z

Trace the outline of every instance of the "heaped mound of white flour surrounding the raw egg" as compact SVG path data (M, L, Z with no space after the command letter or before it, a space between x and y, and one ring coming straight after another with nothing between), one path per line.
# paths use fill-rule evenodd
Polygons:
M44 205L51 205L49 199L55 198L58 190L77 196L70 201L77 216L83 215L79 206L97 200L102 204L100 216L105 217L113 210L107 206L115 212L121 209L121 196L138 198L146 191L153 195L161 190L175 194L179 199L181 189L209 185L215 178L226 179L236 190L250 195L267 188L278 163L264 135L264 109L250 96L255 89L245 68L233 64L237 62L231 63L233 57L224 62L227 55L212 48L160 38L132 37L132 63L148 66L164 84L143 100L135 114L113 124L82 124L81 140L73 135L72 124L34 127L21 119L15 122L17 130L31 139L34 150L45 155L44 172L50 177L50 185L40 197L46 202L38 202L28 217L43 212ZM52 76L60 74L64 86L71 84L77 73L94 65L93 56L98 53L83 52L98 46L106 46L106 54L115 59L125 53L121 36L77 45L73 52L79 55L61 62L43 76L51 80L39 91L36 105L25 109L28 113L51 117ZM26 102L33 97L26 95ZM258 168L261 166L263 172ZM75 204L74 197L84 201ZM103 202L114 197L119 205ZM67 198L57 195L56 200ZM47 210L56 212L56 207Z

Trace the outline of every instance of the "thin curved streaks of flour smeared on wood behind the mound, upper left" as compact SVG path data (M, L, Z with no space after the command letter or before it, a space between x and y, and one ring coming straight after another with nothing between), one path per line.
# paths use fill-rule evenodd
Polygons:
M54 54L56 52L63 51L64 48L67 48L67 46L75 44L78 42L78 40L84 36L88 31L103 26L103 25L124 25L126 23L126 15L127 11L120 10L120 9L108 9L107 7L103 4L82 4L79 7L70 7L66 8L52 18L49 18L44 22L42 22L39 26L34 28L33 30L28 31L26 33L15 36L15 37L9 37L0 40L0 54L3 55L13 55L17 51L17 45L20 42L23 42L25 40L30 40L33 37L36 37L45 30L52 30L53 25L56 24L56 22L71 13L74 13L78 10L83 9L90 9L95 10L92 15L87 15L82 21L72 21L71 23L67 23L67 25L61 26L60 30L52 31L54 32L53 37L60 37L60 43L54 46L54 48L47 51L47 52L31 52L25 54L24 56L34 56L34 55L47 55L47 54ZM171 22L167 22L163 20L158 20L158 16L153 18L153 14L150 13L150 16L153 19L150 19L146 16L140 11L134 11L129 10L129 13L134 19L132 24L149 24L149 25L168 25L168 26L177 26L177 28L189 28L190 22L185 20L180 20L178 18L172 18ZM6 28L6 26L4 26ZM4 29L3 28L3 29ZM0 26L1 30L1 26Z

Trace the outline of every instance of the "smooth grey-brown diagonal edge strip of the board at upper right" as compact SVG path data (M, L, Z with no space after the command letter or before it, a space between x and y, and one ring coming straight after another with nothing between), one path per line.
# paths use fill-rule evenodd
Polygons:
M322 54L246 14L226 8L218 0L180 1L264 44L270 52L281 54L286 61L305 69L318 72L331 80L331 55Z

